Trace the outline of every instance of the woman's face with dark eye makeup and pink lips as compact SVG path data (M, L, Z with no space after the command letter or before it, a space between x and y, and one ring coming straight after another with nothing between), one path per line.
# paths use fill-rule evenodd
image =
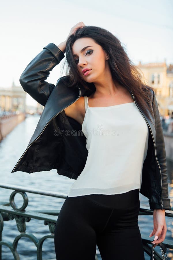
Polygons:
M108 56L92 38L85 37L76 40L72 47L72 53L77 69L84 81L97 82L106 75L106 69L108 69L106 59L108 60ZM86 68L89 71L85 74L82 73L82 70Z

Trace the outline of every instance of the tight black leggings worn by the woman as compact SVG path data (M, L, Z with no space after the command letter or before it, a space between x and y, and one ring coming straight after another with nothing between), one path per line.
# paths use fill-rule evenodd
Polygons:
M144 260L138 226L139 190L122 194L91 194L65 199L57 219L57 260Z

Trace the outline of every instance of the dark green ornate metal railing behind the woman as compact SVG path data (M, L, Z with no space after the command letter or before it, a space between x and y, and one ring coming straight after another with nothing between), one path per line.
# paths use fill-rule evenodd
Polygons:
M22 186L16 186L16 185L8 185L8 184L1 184L0 188L10 189L14 190L10 195L9 202L3 202L0 201L0 260L2 259L2 245L7 246L15 260L20 260L17 246L18 242L22 237L29 238L34 244L37 249L37 260L42 260L42 245L43 242L47 238L54 239L54 231L55 231L55 225L57 222L57 216L59 215L59 211L50 211L50 210L34 210L34 211L26 211L26 207L28 205L28 196L26 192L28 193L34 193L34 194L40 194L44 196L50 196L50 197L56 197L56 198L66 198L67 196L65 194L59 194L56 192L45 192L42 190L34 190L29 189L27 187ZM17 207L17 205L14 202L14 197L16 194L21 194L23 198L23 204L20 207ZM173 210L173 208L172 208ZM173 217L173 211L166 210L165 216L167 217ZM153 215L153 210L149 209L149 207L140 208L139 215ZM13 243L10 241L7 241L3 239L2 237L2 231L3 231L3 223L4 221L9 220L16 220L16 226L19 231L19 235L17 235L14 238ZM26 222L29 222L31 219L37 219L37 220L43 220L44 225L48 225L50 235L45 235L40 239L37 239L32 233L26 232ZM151 254L151 241L153 241L153 238L150 238L146 235L142 235L142 243L144 251L150 256ZM173 241L165 239L164 245L166 248L173 249ZM82 259L82 256L81 256ZM155 259L159 260L162 259L158 253L155 251ZM95 255L95 260L98 260L97 255Z

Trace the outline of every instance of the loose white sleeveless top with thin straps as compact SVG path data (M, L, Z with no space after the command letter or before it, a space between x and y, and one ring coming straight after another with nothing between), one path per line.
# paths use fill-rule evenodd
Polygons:
M88 156L67 196L120 194L141 188L148 125L134 102L89 107L84 97Z

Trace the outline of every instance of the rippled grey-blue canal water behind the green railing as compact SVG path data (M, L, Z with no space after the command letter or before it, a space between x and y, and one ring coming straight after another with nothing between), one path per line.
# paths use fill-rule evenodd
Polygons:
M39 189L44 191L58 192L66 194L68 193L71 185L75 180L69 179L65 176L60 176L57 174L57 170L52 169L51 171L45 172L14 172L11 173L16 162L25 151L31 136L35 130L37 122L40 116L28 116L25 121L20 123L14 128L14 130L8 134L0 142L0 181L1 183L6 183L10 185L25 186L28 188ZM173 206L173 163L167 161L168 164L168 185L169 185L169 197L171 199L171 206ZM0 201L9 201L10 194L13 190L5 190L0 188ZM27 193L29 197L29 203L27 210L57 210L59 211L63 205L64 199L61 198L51 198L49 196L34 195ZM140 207L149 207L148 198L140 195ZM20 196L20 195L19 195ZM15 202L20 203L20 198L15 197ZM167 233L166 239L173 238L173 219L166 218ZM139 216L138 224L142 234L149 236L153 230L153 216ZM50 235L48 226L44 225L44 221L31 220L26 222L27 233L32 233L40 239L44 235ZM14 237L19 235L16 228L15 220L4 221L3 228L3 239L13 242ZM154 236L153 236L154 238ZM128 241L127 241L128 243ZM164 243L164 242L163 242ZM28 239L22 238L18 243L18 253L21 260L36 260L36 247ZM87 249L87 248L86 248ZM160 248L157 246L155 248L160 253ZM67 248L68 250L68 248ZM84 252L85 253L85 252ZM122 252L123 253L123 252ZM96 254L99 260L101 257L99 255L99 250L97 248ZM145 260L149 260L150 257L145 254ZM173 259L173 250L167 249L168 259ZM13 260L12 253L6 246L2 246L2 260ZM56 260L54 251L54 240L51 238L46 239L43 244L43 260ZM82 259L82 256L81 256ZM129 260L132 259L129 257ZM69 259L70 260L70 259ZM110 259L112 260L112 259Z

